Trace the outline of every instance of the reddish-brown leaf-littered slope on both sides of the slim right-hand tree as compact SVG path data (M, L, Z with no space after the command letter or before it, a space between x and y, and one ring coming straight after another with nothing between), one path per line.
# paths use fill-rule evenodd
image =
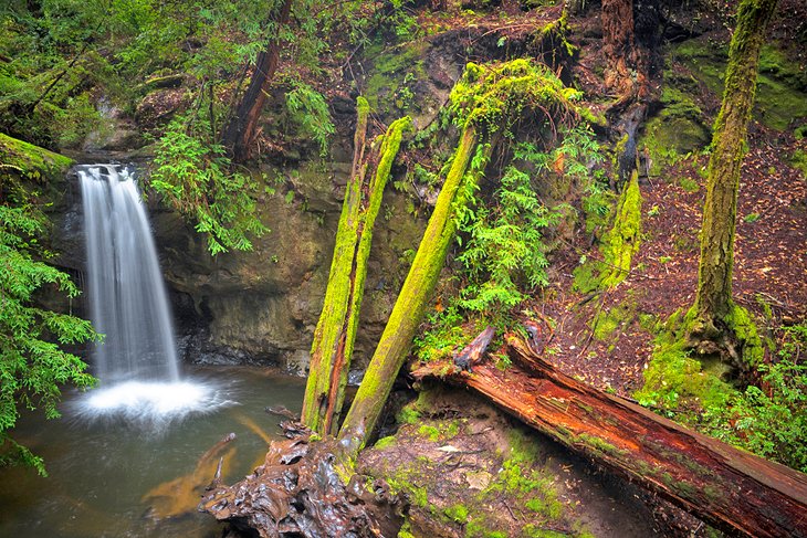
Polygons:
M761 335L773 338L782 325L807 316L807 181L788 161L807 141L755 124L748 144L734 298L755 315ZM590 297L573 291L572 272L584 255L601 257L597 246L578 233L558 252L556 279L533 308L557 323L547 351L567 373L626 397L643 384L653 327L694 300L706 163L708 156L682 158L642 182L642 242L630 274L616 288L583 304ZM598 338L591 320L609 315L614 330Z

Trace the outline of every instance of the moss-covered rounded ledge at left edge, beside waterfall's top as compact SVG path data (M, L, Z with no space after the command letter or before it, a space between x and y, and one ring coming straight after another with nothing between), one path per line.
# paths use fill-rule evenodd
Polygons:
M0 133L2 173L18 173L32 180L60 178L72 165L73 160L69 157Z

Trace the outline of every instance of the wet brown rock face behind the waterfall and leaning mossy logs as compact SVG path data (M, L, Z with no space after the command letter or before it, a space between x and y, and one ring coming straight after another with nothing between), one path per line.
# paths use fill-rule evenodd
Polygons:
M327 285L346 182L346 167L325 171L283 170L294 201L282 192L261 200L271 232L251 252L211 256L203 238L176 213L150 200L149 213L160 267L169 292L180 355L187 362L277 365L303 373ZM86 271L84 214L75 177L51 198L55 263L82 285ZM385 194L379 217L355 365L364 369L406 276L405 253L416 249L422 222L406 213L404 194ZM87 316L82 298L64 305Z

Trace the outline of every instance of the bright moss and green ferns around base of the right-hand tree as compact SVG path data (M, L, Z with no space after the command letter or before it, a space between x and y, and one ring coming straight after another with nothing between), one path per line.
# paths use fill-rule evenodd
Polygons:
M807 327L783 328L779 360L758 365L758 383L741 391L722 380L726 365L691 356L685 335L693 316L693 310L683 318L678 312L661 328L644 370L644 387L635 394L639 403L735 446L807 471L807 367L799 363Z

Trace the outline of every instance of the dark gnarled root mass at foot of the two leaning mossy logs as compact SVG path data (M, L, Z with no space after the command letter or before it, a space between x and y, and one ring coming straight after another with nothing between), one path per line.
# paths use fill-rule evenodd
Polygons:
M398 536L408 506L386 483L352 473L349 441L314 440L296 422L281 426L291 439L273 441L264 464L241 482L211 485L200 511L261 538Z

